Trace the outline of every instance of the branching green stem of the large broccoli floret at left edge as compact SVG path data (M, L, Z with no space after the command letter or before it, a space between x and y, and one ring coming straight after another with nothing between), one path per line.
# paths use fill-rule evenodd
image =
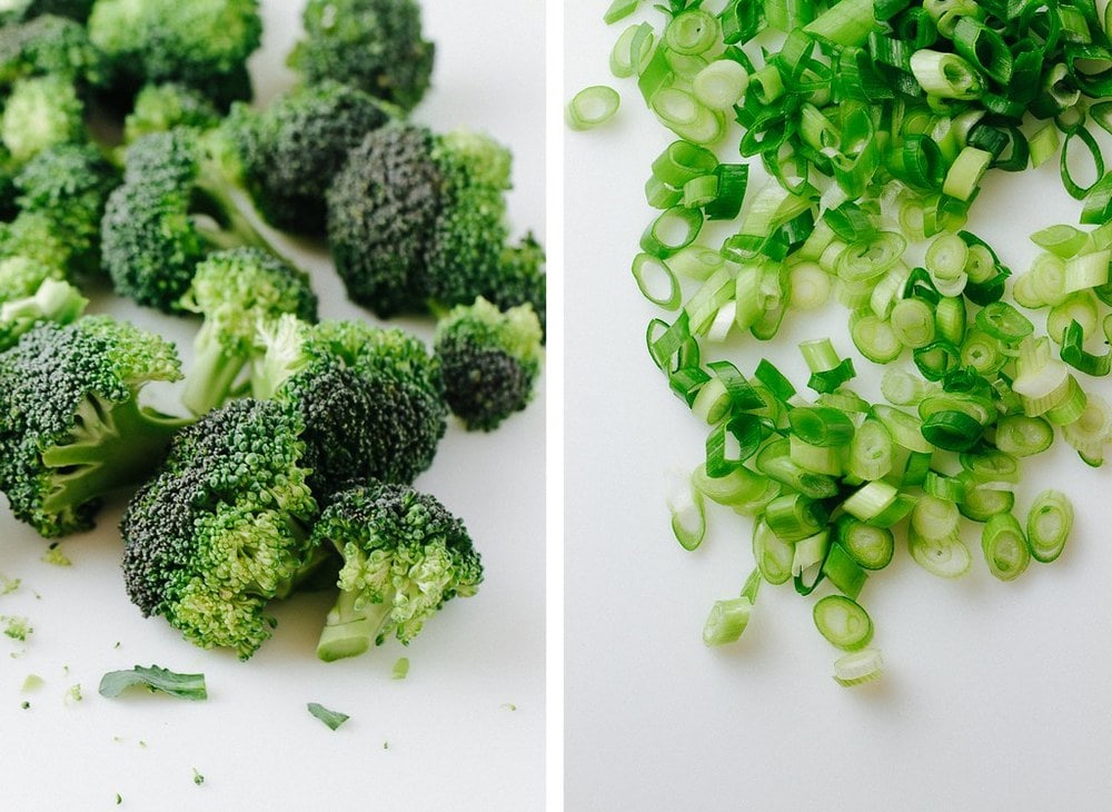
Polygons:
M42 509L58 512L139 484L189 423L141 407L135 397L110 403L90 396L78 408L69 442L42 452L43 465L54 471Z

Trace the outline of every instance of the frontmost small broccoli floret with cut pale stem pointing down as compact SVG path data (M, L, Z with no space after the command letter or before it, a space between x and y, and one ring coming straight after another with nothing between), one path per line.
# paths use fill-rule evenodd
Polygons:
M363 654L388 636L408 644L453 597L474 595L483 564L463 522L408 485L370 483L336 495L312 541L344 557L317 655Z

